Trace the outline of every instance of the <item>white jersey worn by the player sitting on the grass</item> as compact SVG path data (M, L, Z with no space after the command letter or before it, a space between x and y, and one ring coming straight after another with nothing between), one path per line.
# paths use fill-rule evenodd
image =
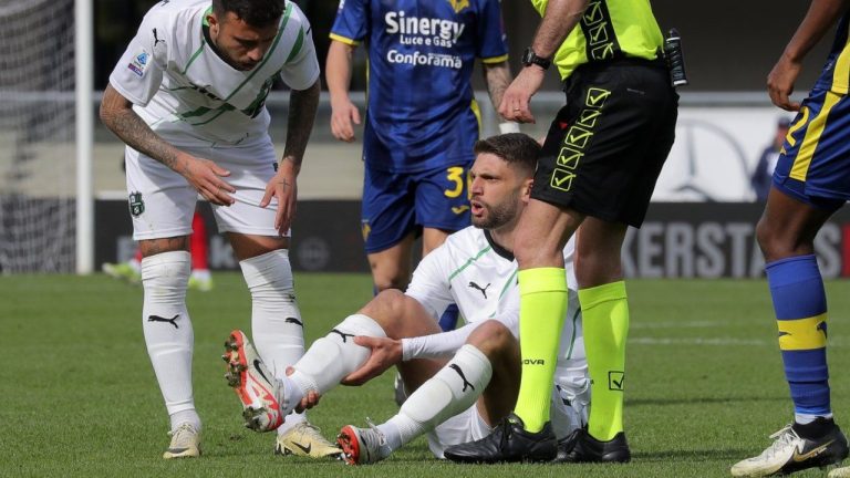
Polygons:
M567 285L576 290L573 240L563 248ZM455 303L467 322L499 319L515 333L519 323L519 285L514 254L489 233L469 226L450 235L423 258L405 292L435 318Z

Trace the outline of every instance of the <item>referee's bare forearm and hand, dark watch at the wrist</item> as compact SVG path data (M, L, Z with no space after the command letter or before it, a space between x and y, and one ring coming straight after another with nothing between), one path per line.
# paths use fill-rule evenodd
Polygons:
M588 0L550 0L540 27L535 34L531 49L538 56L551 59L563 40L581 19ZM546 70L538 65L524 67L508 90L499 106L499 114L506 119L519 123L533 123L529 103L531 96L540 90Z

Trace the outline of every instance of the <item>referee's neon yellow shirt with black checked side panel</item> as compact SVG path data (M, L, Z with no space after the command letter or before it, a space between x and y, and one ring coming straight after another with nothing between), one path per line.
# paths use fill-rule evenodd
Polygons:
M542 17L549 0L531 0ZM590 0L576 28L554 54L561 79L588 62L618 58L655 60L664 37L649 0Z

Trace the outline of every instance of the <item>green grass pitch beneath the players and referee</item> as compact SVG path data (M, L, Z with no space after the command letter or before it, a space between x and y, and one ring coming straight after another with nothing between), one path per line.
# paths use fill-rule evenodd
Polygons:
M190 291L195 397L204 457L160 458L167 417L142 337L142 290L104 276L0 278L0 476L576 476L722 477L760 451L791 418L764 281L629 282L625 466L456 466L424 439L363 468L272 456L272 435L241 426L219 357L234 328L249 328L238 273L216 273L210 293ZM308 342L371 295L366 276L296 276ZM832 401L850 430L850 294L827 284ZM345 424L394 413L392 377L323 397L311 420L333 437ZM801 476L826 476L809 470Z

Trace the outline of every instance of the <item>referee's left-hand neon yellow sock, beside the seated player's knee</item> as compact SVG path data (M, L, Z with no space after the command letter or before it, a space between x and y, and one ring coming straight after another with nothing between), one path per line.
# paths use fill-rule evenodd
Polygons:
M519 271L519 346L522 378L514 409L528 432L540 432L549 422L552 377L558 361L558 339L567 312L563 268Z

